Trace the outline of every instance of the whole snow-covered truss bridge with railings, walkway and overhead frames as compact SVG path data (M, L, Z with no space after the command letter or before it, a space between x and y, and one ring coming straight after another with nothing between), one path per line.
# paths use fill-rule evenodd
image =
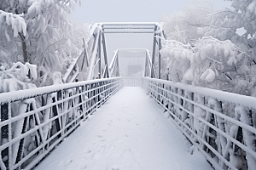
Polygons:
M119 77L135 49L108 66L109 32L154 35L152 54L137 49L143 77ZM256 99L160 80L162 34L158 23L98 23L70 83L0 94L1 170L255 169Z

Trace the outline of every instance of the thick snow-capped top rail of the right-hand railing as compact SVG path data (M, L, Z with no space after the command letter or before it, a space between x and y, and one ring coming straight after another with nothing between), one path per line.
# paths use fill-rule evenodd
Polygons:
M160 80L160 79L149 78L149 77L143 77L143 78L145 78L146 80L153 80L154 82L164 83L166 85L170 85L175 88L183 88L189 92L194 92L196 94L212 97L214 99L221 99L237 105L243 105L243 106L256 109L256 105L255 105L256 98L251 96L233 94L233 93L224 92L224 91L220 91L212 88L202 88L202 87L197 87L189 84L184 84L181 82L170 82L166 80Z

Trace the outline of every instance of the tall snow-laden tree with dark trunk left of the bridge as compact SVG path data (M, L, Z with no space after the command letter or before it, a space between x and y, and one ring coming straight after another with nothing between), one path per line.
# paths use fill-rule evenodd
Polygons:
M0 4L1 63L29 62L38 65L38 84L52 74L63 74L75 47L67 14L77 0L3 0ZM48 77L48 78L46 78Z

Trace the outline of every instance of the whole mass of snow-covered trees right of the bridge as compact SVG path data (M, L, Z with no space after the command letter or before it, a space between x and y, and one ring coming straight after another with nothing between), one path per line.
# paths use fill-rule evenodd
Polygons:
M185 21L176 21L174 19L178 17L172 15L173 18L170 18L172 22L166 22L164 25L166 37L172 41L167 42L167 47L162 50L163 57L170 60L163 63L163 71L169 70L168 73L172 74L169 75L170 80L256 96L254 85L256 3L242 0L231 1L233 1L232 9L227 8L211 14L207 13L210 10L206 10L207 7L211 7L210 5L203 4L205 8L198 8L201 3L207 3L207 1L199 1L201 3L197 3L199 4L197 7L189 3L190 8L187 7L186 14L180 14L180 16L188 17L187 20L190 21L188 26L196 26L187 27L192 28L193 31L197 30L194 35L196 39L200 39L193 43L184 41L184 37L188 38L186 31L183 31L183 34L177 34L181 31L171 31L171 28L178 26L177 21L180 23ZM199 14L199 16L194 17L193 14ZM184 24L179 25L181 26ZM247 31L242 36L236 33L236 30L240 28ZM172 34L168 34L170 32Z

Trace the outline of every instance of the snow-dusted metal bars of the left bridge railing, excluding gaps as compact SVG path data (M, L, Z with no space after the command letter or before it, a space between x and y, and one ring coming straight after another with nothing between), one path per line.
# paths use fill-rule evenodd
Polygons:
M96 111L102 104L104 104L110 96L115 94L119 88L123 85L121 77L100 79L94 81L74 82L70 84L61 84L53 87L35 88L23 91L11 92L7 96L6 94L0 94L0 108L3 111L4 105L8 105L8 120L2 120L0 122L0 129L2 132L3 127L9 126L9 139L6 143L1 139L0 143L0 169L24 169L28 170L38 164L44 156L46 156L50 150L55 148L56 144L59 144L69 133L79 126L80 122L84 122L87 119L88 114ZM24 94L20 96L20 94ZM59 95L59 96L58 96ZM39 97L45 97L46 99L55 100L55 102L49 102L48 105L38 106L36 105L36 99ZM11 106L15 102L25 103L27 108L32 106L32 111L26 111L20 113L19 116L11 115ZM65 109L66 108L66 109ZM13 133L15 129L12 129L12 125L28 119L30 121L31 116L38 117L39 112L49 111L49 117L46 117L45 122L37 120L34 122L34 127L30 127L26 132L20 133L19 136L13 139ZM54 115L55 112L55 116ZM3 113L1 113L3 114ZM69 114L72 117L67 121ZM60 129L52 133L54 122L60 122ZM30 122L29 122L30 123ZM24 126L24 124L23 124ZM28 125L30 126L30 125ZM45 128L45 127L49 128ZM57 129L57 128L56 128ZM47 130L47 136L44 138L44 131ZM21 152L20 161L13 163L12 158L17 156L13 155L13 147L15 144L19 144L22 139L26 140L26 137L36 133L37 138L34 142L38 142L38 146L34 148L26 156L23 156L23 150ZM25 141L24 141L25 142ZM8 156L3 157L3 150L8 150ZM4 159L4 160L3 160ZM7 159L7 160L6 160ZM25 164L26 165L25 165Z

